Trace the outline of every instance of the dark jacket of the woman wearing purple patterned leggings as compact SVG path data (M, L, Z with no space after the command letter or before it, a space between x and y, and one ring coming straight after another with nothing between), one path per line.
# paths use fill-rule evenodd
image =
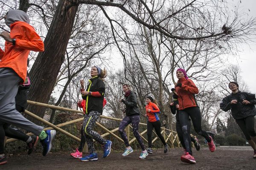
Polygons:
M140 115L140 109L137 106L137 94L131 91L130 95L125 97L125 101L123 103L126 106L125 115Z

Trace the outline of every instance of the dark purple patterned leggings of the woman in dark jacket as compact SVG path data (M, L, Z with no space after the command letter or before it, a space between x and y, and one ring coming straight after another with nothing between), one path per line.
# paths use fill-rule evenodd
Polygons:
M133 130L134 136L137 139L137 141L139 142L141 149L145 150L143 140L140 137L140 133L139 133L140 115L125 116L125 118L122 119L122 122L119 125L118 130L119 130L119 133L120 133L122 139L125 142L125 146L126 147L130 146L129 141L126 136L126 133L125 133L125 127L128 126L130 123L132 124L132 127L133 127L132 130Z

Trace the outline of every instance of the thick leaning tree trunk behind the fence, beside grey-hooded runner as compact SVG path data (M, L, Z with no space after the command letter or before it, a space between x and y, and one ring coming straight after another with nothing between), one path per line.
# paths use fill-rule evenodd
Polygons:
M31 87L29 100L47 103L52 94L55 80L64 62L65 50L73 28L77 4L68 0L59 0L51 26L44 40L44 52L39 53L29 73ZM29 105L27 110L43 117L45 108ZM30 119L39 123L34 119Z

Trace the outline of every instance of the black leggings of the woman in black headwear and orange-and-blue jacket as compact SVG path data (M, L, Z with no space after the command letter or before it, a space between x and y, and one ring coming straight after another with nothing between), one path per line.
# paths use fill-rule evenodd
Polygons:
M148 135L148 147L152 147L152 132L155 129L157 136L162 141L163 145L166 145L166 142L161 135L161 122L157 120L156 122L147 122L147 135Z

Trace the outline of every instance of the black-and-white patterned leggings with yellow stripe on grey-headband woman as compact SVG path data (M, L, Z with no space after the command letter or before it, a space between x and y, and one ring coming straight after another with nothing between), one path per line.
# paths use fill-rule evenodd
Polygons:
M99 142L100 144L105 144L107 141L103 139L99 133L93 131L93 127L98 120L100 113L97 111L90 111L89 114L84 116L83 129L84 129L84 138L87 142L89 153L96 153L96 150L93 145L93 139Z

